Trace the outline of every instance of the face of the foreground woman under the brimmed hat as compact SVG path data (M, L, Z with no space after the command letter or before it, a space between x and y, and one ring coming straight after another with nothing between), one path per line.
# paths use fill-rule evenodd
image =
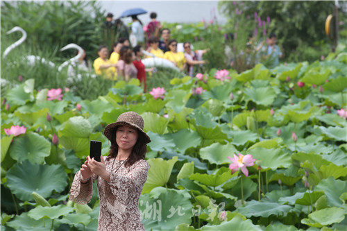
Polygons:
M116 142L119 149L124 151L131 151L137 142L139 136L137 129L133 126L122 125L119 126L116 132Z

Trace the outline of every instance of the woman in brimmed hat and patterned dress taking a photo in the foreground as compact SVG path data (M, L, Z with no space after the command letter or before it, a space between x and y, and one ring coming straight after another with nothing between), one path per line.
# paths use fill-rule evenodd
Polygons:
M94 180L100 198L98 230L144 230L138 201L149 164L144 160L151 139L144 132L144 120L136 112L125 112L103 134L111 142L108 157L82 164L72 183L69 200L87 204L93 195Z

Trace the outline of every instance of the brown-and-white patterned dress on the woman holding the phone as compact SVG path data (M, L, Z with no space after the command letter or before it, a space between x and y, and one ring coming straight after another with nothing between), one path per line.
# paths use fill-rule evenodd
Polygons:
M69 200L78 204L89 203L93 194L92 181L98 179L100 198L98 231L144 230L138 201L144 182L147 180L148 162L138 160L132 166L126 167L122 160L115 158L108 160L105 157L104 160L106 170L110 173L110 183L93 174L91 180L82 184L81 171L78 171L71 186Z

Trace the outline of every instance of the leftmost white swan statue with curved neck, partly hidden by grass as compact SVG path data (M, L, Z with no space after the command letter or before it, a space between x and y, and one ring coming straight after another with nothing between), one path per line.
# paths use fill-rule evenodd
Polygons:
M20 44L22 44L26 40L26 37L27 37L26 31L24 31L23 28L21 28L19 26L15 26L10 31L8 31L6 34L9 35L10 33L13 33L16 31L22 32L22 37L17 42L8 46L8 48L5 51L3 51L2 58L6 58L6 56L8 55L8 53L10 53L10 51L12 51L12 49L15 49L17 46L19 46ZM40 56L27 55L24 57L24 59L26 59L28 61L28 64L31 66L35 65L35 62L42 62L42 63L46 63L47 65L49 65L51 67L56 67L56 65L53 62L47 61L44 58L41 58Z

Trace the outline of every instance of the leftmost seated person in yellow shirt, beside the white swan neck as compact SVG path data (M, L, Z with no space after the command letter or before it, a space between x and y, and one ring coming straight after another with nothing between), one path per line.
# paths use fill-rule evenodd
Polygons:
M99 58L94 60L94 70L95 74L103 75L104 78L109 78L117 80L116 64L111 63L108 57L108 48L107 46L100 46L98 50Z

